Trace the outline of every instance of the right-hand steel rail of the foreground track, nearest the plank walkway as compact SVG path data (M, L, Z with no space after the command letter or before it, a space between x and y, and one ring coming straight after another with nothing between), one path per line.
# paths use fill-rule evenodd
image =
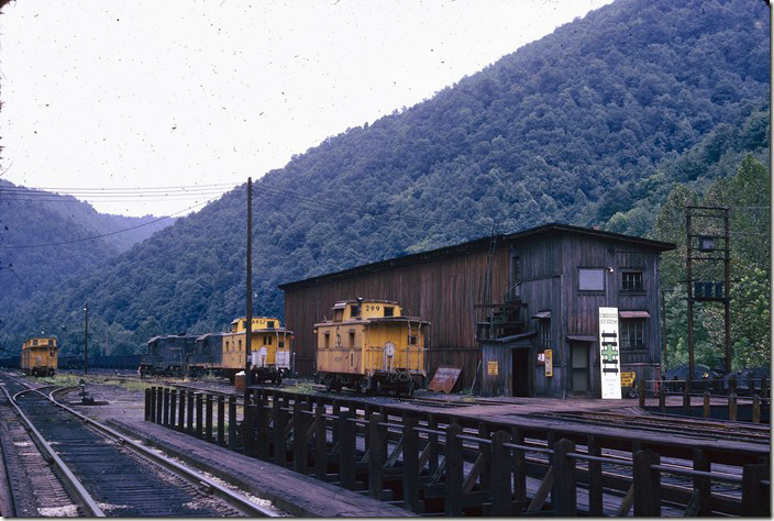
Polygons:
M60 407L62 409L66 410L67 412L74 414L76 418L80 419L81 421L88 423L96 430L100 431L102 434L106 434L110 437L115 439L121 445L131 448L135 453L141 454L143 457L151 459L155 462L156 464L161 465L162 467L166 468L167 470L172 472L176 476L181 477L186 481L189 481L197 487L199 487L202 491L206 491L207 494L210 494L218 499L226 502L229 506L234 507L236 510L241 511L242 513L248 516L248 517L261 517L261 518L277 518L281 517L279 512L277 512L274 509L262 507L261 505L256 505L253 501L251 501L247 497L234 492L232 490L229 490L228 488L223 487L222 485L215 483L213 479L204 476L203 474L199 473L198 470L195 470L186 465L183 465L167 456L164 456L162 454L158 454L142 444L131 440L130 437L121 434L120 432L109 428L108 425L104 425L98 421L92 420L91 418L88 418L85 414L81 414L80 412L67 407L64 403L60 403L54 398L54 393L65 391L67 388L62 388L62 389L54 389L51 391L48 396L46 396L44 392L40 392L42 396L46 397L48 400L51 400L55 406Z

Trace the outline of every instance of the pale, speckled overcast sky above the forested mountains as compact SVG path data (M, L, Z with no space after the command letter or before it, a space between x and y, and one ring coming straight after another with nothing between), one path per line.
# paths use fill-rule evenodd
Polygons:
M0 178L185 214L610 1L14 1Z

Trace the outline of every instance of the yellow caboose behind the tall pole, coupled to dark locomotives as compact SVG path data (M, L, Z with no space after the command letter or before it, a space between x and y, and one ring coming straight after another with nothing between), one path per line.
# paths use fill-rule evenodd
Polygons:
M229 377L245 367L246 331L247 320L241 317L231 322L231 331L223 333L222 365ZM283 381L292 365L292 331L283 328L276 318L254 317L251 333L251 381Z

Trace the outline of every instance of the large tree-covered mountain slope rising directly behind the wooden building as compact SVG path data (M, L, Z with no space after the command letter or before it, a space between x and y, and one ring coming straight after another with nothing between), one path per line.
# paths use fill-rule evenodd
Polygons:
M618 2L432 99L350 129L255 186L255 313L277 284L546 222L645 234L671 189L769 151L763 2ZM92 341L222 329L244 313L245 187L13 311L0 342L88 299ZM51 324L51 325L46 325ZM291 324L290 324L291 325Z

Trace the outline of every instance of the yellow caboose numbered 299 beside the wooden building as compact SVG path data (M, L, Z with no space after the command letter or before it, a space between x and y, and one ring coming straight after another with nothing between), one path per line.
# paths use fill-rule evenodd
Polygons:
M425 335L430 322L402 317L390 300L344 300L333 319L314 324L319 381L363 392L412 395L427 377Z

